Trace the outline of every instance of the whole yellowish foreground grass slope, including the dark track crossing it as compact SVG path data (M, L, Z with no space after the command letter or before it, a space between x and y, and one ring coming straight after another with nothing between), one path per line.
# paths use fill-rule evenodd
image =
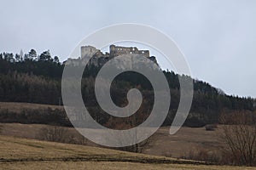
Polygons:
M1 169L256 169L0 136Z

